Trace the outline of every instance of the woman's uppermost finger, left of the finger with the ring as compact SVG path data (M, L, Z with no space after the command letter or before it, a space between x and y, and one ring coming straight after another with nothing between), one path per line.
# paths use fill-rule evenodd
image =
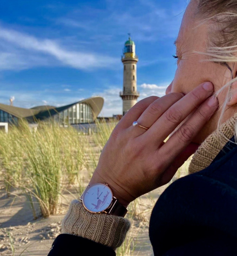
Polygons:
M127 113L119 121L117 126L120 128L130 127L133 124L133 122L139 119L139 116L141 116L141 114L146 110L146 108L156 99L159 99L159 97L150 96L137 102L133 106L133 108L130 108L130 110L127 111Z

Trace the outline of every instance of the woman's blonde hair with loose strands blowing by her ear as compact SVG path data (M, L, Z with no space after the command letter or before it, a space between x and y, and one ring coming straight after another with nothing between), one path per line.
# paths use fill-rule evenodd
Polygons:
M225 108L231 97L232 84L237 81L233 73L237 62L237 0L198 0L197 16L203 22L210 23L209 46L207 55L211 61L226 66L231 72L231 81L216 92L216 96L227 89L225 101L220 106L220 119L217 128L223 121ZM235 137L237 125L235 125Z

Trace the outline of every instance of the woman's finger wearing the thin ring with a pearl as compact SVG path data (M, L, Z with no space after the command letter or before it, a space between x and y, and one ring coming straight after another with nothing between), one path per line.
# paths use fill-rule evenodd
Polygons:
M170 93L159 99L156 99L142 113L137 122L142 126L150 128L153 125L153 123L156 122L157 119L159 119L163 113L165 113L165 111L167 111L174 103L179 101L183 96L183 93ZM139 126L137 126L136 129L134 129L134 127L131 126L129 129L133 130L133 137L138 137L139 135L146 132L144 128L140 128Z

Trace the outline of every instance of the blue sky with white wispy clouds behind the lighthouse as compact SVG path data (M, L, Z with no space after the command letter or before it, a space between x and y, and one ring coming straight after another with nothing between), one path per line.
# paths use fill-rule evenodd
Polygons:
M186 0L1 0L0 102L31 108L103 96L103 116L122 113L121 54L131 33L140 98L173 80Z

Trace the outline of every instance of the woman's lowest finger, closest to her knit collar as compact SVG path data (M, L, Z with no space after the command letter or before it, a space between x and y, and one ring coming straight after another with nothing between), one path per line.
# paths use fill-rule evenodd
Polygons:
M197 111L167 140L159 149L158 154L168 156L167 163L173 160L187 147L202 127L218 108L218 100L211 97L206 100ZM165 166L164 166L165 167ZM166 166L168 167L168 166ZM164 168L165 169L165 168Z

